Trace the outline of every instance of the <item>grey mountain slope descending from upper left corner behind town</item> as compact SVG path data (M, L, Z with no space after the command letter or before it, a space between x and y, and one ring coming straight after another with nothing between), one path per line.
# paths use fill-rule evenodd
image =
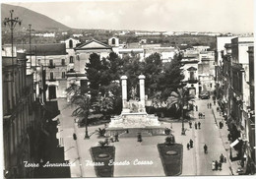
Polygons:
M10 10L14 10L14 18L19 17L22 20L21 30L29 29L32 25L32 30L69 30L70 28L58 23L47 16L36 13L32 10L21 6L13 6L1 4L1 22L5 18L10 18Z

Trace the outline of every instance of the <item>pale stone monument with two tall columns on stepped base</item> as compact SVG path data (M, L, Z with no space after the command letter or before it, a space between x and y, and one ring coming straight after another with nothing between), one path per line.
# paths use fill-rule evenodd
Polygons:
M145 76L139 76L140 100L135 97L127 101L127 77L121 77L122 85L122 112L119 116L111 118L106 129L106 135L130 133L148 134L148 136L164 134L164 128L160 127L158 116L148 114L145 107ZM134 95L134 94L132 94Z

